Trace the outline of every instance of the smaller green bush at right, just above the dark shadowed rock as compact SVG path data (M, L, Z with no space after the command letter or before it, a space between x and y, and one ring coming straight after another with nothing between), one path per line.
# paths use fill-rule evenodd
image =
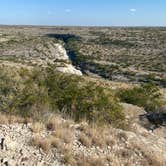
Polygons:
M124 89L118 92L122 102L144 107L149 111L159 111L162 106L161 94L159 88L153 83L142 84L132 89Z

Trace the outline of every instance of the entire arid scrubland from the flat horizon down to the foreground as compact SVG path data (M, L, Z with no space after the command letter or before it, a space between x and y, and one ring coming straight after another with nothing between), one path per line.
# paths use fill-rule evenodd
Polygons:
M0 165L165 166L165 71L166 28L0 26Z

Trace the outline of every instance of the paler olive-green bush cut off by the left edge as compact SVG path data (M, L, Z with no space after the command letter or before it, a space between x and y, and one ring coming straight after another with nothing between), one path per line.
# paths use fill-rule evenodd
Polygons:
M34 112L34 109L41 111L47 102L47 92L39 79L34 81L36 73L30 75L30 72L21 69L17 78L14 72L0 69L0 111L24 117L30 116L30 111Z

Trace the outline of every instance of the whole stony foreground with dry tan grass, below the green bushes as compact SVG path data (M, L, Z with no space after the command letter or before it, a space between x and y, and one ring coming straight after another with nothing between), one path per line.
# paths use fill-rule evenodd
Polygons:
M166 129L159 128L154 133L148 131L136 118L144 112L141 108L128 104L123 107L132 121L129 131L111 126L101 131L85 122L75 124L60 117L45 126L37 123L1 124L1 165L165 166ZM130 114L133 110L136 110L134 115ZM43 141L40 146L39 140Z

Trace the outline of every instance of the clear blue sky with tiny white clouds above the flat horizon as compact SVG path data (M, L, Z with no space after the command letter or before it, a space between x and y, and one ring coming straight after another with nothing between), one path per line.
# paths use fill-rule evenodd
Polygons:
M166 26L166 0L0 0L0 24Z

